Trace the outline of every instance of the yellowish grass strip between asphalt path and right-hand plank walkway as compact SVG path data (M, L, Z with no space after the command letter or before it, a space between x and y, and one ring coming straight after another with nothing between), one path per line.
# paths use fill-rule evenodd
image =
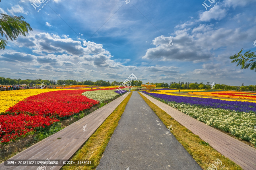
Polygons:
M187 152L194 158L202 169L206 170L217 158L219 158L222 161L222 167L225 166L222 170L242 170L239 165L220 154L217 150L208 145L208 143L200 139L199 136L195 135L190 130L179 124L179 122L174 120L174 118L152 103L141 93L139 94L149 105L149 107L156 113L160 120L162 120L167 128L172 125L173 130L171 132L174 137L176 137L179 143L181 143L181 145L187 150Z

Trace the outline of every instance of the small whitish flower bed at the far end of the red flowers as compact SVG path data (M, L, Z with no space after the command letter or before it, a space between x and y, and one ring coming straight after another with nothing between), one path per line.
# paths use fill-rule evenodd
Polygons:
M100 103L111 100L120 94L115 93L114 90L96 90L82 93L82 95L100 101Z

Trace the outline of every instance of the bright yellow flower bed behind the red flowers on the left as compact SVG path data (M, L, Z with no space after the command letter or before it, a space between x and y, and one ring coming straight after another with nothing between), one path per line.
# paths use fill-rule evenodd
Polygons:
M28 89L28 90L11 90L0 92L0 113L5 112L9 107L14 106L21 100L29 96L37 95L45 92L52 92L65 89Z

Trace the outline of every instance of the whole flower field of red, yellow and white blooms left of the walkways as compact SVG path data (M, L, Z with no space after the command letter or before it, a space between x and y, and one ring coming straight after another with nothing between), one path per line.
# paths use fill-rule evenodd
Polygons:
M45 128L60 119L78 114L99 103L97 100L82 95L85 91L93 92L94 97L97 94L105 94L107 98L113 95L118 96L114 90L115 87L104 87L96 90L91 90L91 88L88 90L31 89L1 92L1 101L5 105L1 106L0 141L8 143L19 139L35 131L36 128Z

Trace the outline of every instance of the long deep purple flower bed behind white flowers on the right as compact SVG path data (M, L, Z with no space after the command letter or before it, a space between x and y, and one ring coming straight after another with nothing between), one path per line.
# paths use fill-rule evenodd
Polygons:
M143 91L143 93L150 95L156 99L163 100L167 103L184 103L189 105L195 105L204 108L214 108L214 109L226 109L238 112L255 112L256 113L256 103L243 102L243 101L226 101L220 99L202 98L202 97L186 97L186 96L175 96L166 94L156 94L148 93Z

